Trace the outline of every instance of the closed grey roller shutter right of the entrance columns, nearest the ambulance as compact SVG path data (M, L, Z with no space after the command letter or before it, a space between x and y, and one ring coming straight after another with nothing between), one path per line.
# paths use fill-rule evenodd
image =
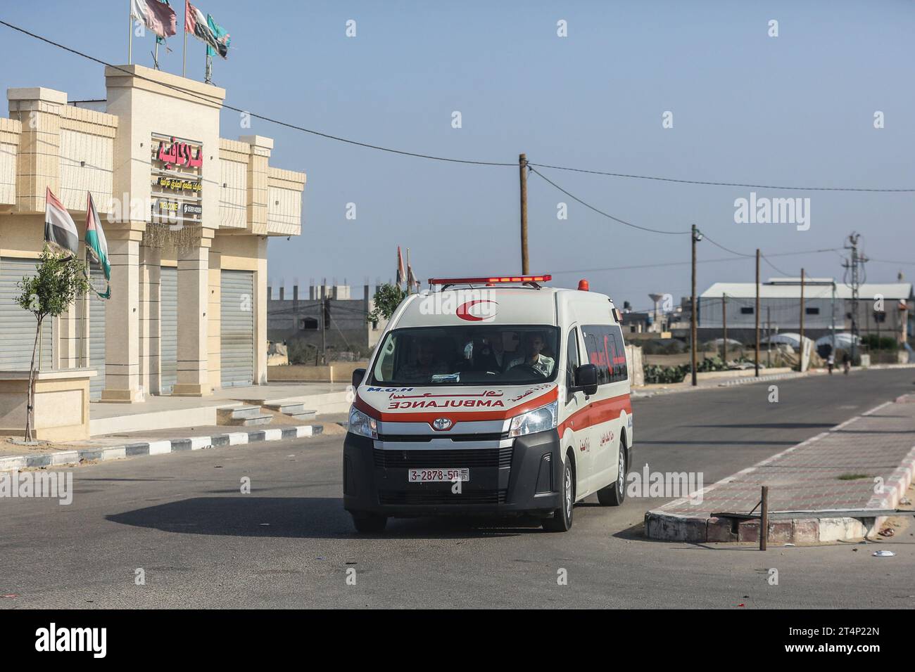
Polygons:
M254 383L254 273L222 271L220 301L221 384Z

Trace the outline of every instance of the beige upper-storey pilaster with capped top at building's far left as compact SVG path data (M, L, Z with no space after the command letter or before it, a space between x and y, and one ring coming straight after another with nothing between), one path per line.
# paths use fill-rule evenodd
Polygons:
M10 119L22 124L16 161L17 211L44 212L48 187L66 205L60 194L60 112L67 94L53 89L8 89L6 98Z

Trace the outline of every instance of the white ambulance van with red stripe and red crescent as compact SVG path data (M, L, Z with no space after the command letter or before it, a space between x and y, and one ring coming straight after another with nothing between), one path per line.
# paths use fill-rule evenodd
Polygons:
M343 506L361 532L389 517L539 517L572 527L597 493L619 506L632 407L619 313L549 275L430 280L353 373Z

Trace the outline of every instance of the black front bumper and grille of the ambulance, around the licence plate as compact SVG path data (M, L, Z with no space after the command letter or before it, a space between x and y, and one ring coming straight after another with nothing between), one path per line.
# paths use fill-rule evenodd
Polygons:
M404 443L347 433L343 506L354 515L545 516L560 507L562 453L555 430L508 439L401 437ZM412 469L468 469L468 480L414 483ZM458 486L459 485L459 486Z

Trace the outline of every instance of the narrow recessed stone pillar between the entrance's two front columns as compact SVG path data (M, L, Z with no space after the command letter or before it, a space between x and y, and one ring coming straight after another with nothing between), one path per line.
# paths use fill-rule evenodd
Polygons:
M160 319L162 251L140 248L140 384L146 394L162 391Z

